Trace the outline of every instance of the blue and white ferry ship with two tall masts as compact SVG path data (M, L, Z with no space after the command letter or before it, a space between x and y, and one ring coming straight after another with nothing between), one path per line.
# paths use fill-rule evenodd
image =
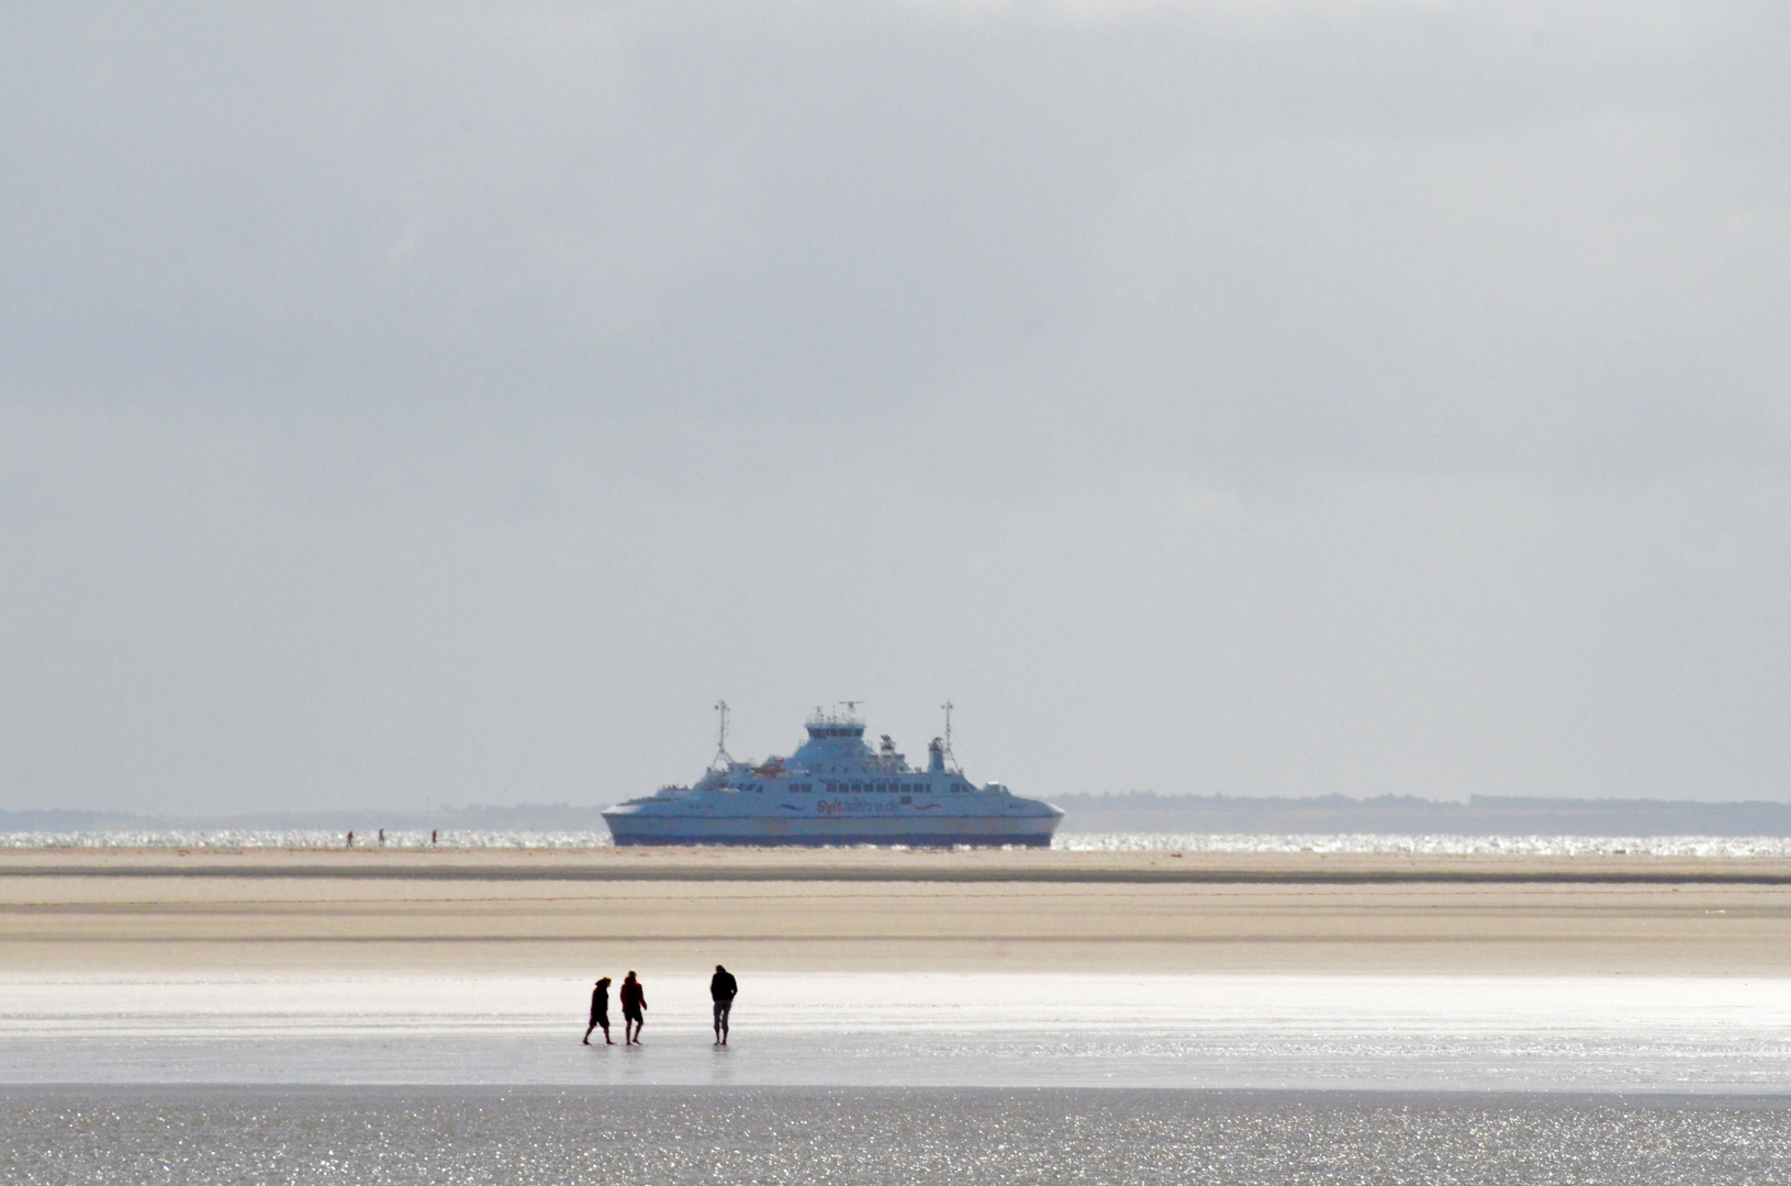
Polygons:
M727 704L715 761L690 786L661 786L604 812L616 844L1019 844L1046 847L1064 813L1021 799L1001 783L971 783L946 736L908 765L883 735L865 743L856 702L808 720L808 740L788 758L752 765L727 752Z

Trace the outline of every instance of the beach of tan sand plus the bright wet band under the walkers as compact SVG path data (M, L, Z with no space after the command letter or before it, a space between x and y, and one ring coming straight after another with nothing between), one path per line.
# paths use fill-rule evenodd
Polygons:
M21 849L0 1079L1778 1095L1787 953L1762 858Z

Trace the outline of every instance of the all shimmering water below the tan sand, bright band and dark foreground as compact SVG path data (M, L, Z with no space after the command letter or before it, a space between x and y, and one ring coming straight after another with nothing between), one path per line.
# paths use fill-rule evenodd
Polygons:
M0 978L0 1182L1782 1182L1784 982Z

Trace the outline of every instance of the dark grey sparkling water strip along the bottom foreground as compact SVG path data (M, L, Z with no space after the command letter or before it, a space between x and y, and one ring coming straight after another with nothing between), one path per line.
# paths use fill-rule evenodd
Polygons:
M1771 1100L1076 1089L11 1089L13 1182L1784 1182Z

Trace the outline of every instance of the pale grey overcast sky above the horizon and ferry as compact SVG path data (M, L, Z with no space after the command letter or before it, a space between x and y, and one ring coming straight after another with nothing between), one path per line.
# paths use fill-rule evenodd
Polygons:
M0 806L1791 799L1791 7L0 13Z

